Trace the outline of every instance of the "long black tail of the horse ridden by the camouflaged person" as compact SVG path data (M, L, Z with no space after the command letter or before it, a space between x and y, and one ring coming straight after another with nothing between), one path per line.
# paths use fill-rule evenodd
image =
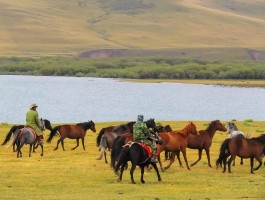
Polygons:
M120 152L123 149L125 139L126 139L125 137L117 136L112 143L111 155L110 155L110 157L111 157L111 164L110 165L113 169L115 169L115 163L117 161L117 158L118 158Z

